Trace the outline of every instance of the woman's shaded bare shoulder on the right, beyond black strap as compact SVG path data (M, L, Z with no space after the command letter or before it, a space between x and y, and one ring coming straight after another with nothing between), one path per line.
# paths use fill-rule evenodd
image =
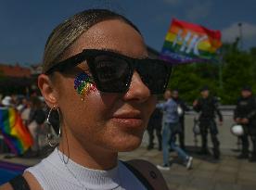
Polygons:
M147 179L147 182L153 186L154 189L168 190L168 186L157 167L147 160L132 159L126 161L135 170L139 171L143 177Z

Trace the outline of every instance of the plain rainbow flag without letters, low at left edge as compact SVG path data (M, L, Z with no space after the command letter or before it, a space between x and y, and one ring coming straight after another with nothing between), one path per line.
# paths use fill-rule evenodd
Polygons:
M0 108L0 132L12 153L23 154L32 146L32 135L15 108Z

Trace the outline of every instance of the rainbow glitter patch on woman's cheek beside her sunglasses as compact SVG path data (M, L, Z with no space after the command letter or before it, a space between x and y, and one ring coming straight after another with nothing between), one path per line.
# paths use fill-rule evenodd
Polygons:
M86 72L80 73L74 80L74 89L84 99L91 91L96 91L96 84Z

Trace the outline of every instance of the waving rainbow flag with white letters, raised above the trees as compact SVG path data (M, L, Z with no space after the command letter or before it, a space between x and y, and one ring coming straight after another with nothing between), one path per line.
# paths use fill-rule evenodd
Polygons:
M221 45L220 31L173 19L160 58L173 64L214 60Z

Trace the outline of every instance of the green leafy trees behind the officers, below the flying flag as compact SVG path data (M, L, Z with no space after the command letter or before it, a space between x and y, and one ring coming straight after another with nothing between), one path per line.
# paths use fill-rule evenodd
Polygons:
M211 95L221 98L222 104L236 104L244 85L256 92L256 47L240 52L234 44L224 44L219 63L194 63L173 67L168 88L179 89L188 103L198 98L199 89L208 85ZM223 84L223 85L222 85Z

